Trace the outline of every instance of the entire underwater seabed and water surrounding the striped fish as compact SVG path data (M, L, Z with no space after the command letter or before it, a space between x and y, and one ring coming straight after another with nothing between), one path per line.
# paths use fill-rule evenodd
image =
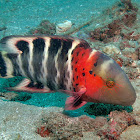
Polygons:
M137 93L128 107L88 103L64 111L68 95L12 92L6 88L23 78L0 79L0 140L139 140L139 7L139 0L0 0L0 39L32 34L84 39L122 67Z

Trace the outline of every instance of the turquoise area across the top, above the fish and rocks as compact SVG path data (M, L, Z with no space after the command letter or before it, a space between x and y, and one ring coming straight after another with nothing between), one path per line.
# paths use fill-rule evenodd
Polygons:
M0 0L0 25L8 27L4 35L25 34L43 19L57 23L66 19L79 25L117 0ZM3 32L0 32L3 37Z

